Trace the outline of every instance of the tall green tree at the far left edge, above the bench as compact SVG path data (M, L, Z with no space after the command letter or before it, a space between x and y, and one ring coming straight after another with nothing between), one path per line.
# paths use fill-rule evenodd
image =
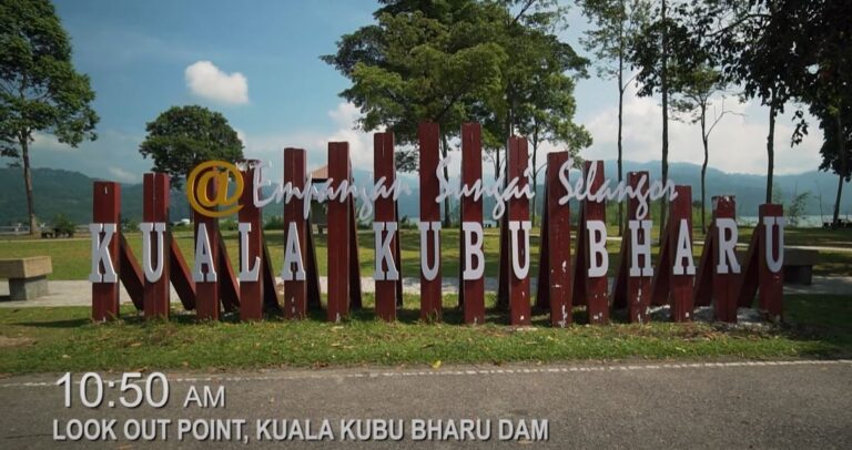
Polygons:
M23 168L30 234L37 232L30 144L53 134L72 147L94 140L89 76L74 70L71 41L47 0L0 2L0 155Z

